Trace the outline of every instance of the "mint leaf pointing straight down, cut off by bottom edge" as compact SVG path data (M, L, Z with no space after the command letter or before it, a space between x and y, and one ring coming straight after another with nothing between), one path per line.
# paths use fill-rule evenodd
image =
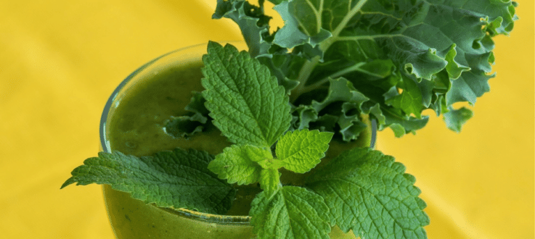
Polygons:
M323 198L305 188L284 186L266 191L251 203L251 225L258 238L322 238L331 231L329 208Z

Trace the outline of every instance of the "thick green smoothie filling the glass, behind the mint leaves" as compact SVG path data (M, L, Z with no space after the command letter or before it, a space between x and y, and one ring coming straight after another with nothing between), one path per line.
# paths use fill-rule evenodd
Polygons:
M172 116L185 115L192 92L201 92L201 61L153 70L136 79L119 95L107 119L106 138L112 151L148 156L176 147L219 154L230 145L212 128L192 138L174 138L165 132ZM244 191L244 190L241 190ZM243 193L242 193L243 195ZM255 192L256 195L256 192ZM241 196L242 198L244 196ZM250 196L251 199L254 195ZM208 215L158 208L104 186L109 219L117 238L251 238L249 218ZM237 200L238 201L238 200ZM238 205L238 204L236 204ZM240 210L248 213L248 205Z

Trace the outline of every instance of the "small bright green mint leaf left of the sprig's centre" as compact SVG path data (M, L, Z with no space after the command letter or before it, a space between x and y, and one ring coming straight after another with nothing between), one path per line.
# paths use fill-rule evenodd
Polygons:
M260 180L262 171L256 162L272 157L269 149L253 145L232 145L215 156L208 164L208 170L217 174L219 179L227 179L228 183L256 183Z

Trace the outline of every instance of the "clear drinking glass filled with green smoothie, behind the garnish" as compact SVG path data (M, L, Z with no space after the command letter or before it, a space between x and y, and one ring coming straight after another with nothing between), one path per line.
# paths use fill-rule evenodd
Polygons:
M233 44L247 49L244 42ZM139 67L128 76L107 101L100 121L101 151L121 151L134 156L150 156L157 151L176 147L219 154L231 145L215 127L207 127L191 137L173 137L166 132L166 123L173 117L186 115L194 92L201 85L202 56L207 44L171 51ZM323 161L351 147L373 147L375 122L355 142L333 140ZM323 162L322 162L323 163ZM284 174L283 174L284 175ZM299 183L304 174L282 177ZM236 199L226 215L214 215L184 208L160 208L133 199L126 192L102 187L111 227L116 238L254 238L249 224L249 206L261 192L258 186L237 186ZM355 238L336 226L330 238Z

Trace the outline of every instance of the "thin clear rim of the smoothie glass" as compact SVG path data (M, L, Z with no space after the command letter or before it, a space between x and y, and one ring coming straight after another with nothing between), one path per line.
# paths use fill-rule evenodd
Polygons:
M222 41L219 43L233 43L233 44L244 44L243 41ZM169 51L168 53L164 53L161 56L158 56L157 58L154 58L153 60L150 60L148 63L145 63L144 65L141 65L141 67L137 68L129 74L117 87L115 88L114 92L111 93L110 97L106 101L106 104L104 105L104 109L102 110L102 115L100 117L100 124L99 124L99 138L100 138L100 147L103 151L111 152L111 147L109 145L109 141L106 138L106 125L107 125L107 119L109 117L110 110L114 104L114 101L117 97L117 95L123 90L125 85L127 83L130 83L132 79L134 79L134 76L137 76L140 72L142 72L147 67L150 67L154 63L156 63L158 60L161 60L162 58L165 58L166 56L170 56L174 53L186 51L188 49L194 49L198 47L205 46L207 43L199 43L194 44L189 47L183 47L180 49L176 49L173 51ZM375 119L371 119L371 141L370 141L370 148L373 149L375 147L375 139L377 135L377 122ZM251 217L249 215L217 215L212 213L203 213L199 211L193 211L186 208L162 208L159 206L155 206L154 204L146 204L146 206L154 206L155 208L159 208L162 211L166 211L167 213L171 213L173 215L178 216L184 216L188 217L192 220L199 220L203 222L217 222L220 224L249 224L251 221Z

